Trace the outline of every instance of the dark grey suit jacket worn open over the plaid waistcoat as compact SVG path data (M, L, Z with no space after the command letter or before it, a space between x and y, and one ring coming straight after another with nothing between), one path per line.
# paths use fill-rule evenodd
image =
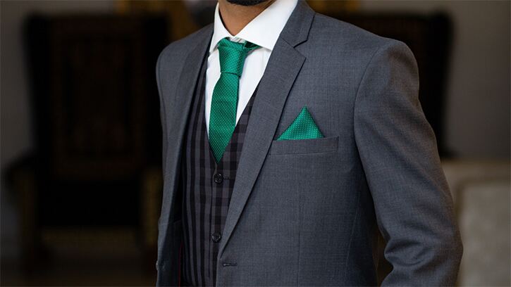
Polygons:
M183 132L213 26L169 44L156 74L164 195L157 286L178 283ZM435 136L402 42L300 1L254 101L218 253L217 286L453 285L462 256ZM276 141L307 106L324 138Z

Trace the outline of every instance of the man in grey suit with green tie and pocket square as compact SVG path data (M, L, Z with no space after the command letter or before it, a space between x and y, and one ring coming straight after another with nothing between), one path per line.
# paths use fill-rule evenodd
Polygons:
M235 36L233 36L235 35ZM448 286L462 255L410 49L296 0L219 0L156 76L157 286Z

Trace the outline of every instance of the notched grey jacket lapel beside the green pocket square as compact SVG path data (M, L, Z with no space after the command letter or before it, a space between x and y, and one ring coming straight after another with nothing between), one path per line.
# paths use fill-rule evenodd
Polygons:
M223 253L252 192L285 101L304 63L305 57L295 46L307 40L313 18L314 11L303 1L299 1L271 52L254 98L218 257Z

